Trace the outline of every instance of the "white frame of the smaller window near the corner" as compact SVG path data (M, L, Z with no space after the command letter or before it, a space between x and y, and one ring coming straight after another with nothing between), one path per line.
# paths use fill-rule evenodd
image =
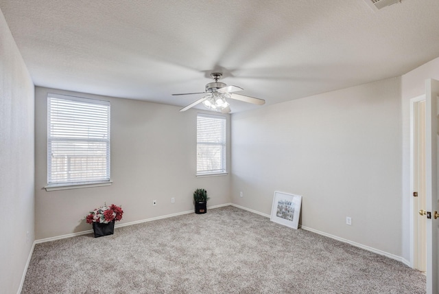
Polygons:
M204 142L199 141L199 118L204 117L206 119L211 120L217 120L219 124L222 124L220 126L222 128L222 140L221 142ZM228 132L227 132L227 117L225 115L212 115L208 113L197 113L197 129L196 129L196 136L197 136L197 150L196 150L196 177L212 177L212 176L222 176L228 174L227 172L227 144L228 144ZM220 168L219 169L213 169L213 170L199 170L199 145L200 144L211 144L214 146L220 146L221 149L221 159L220 159Z

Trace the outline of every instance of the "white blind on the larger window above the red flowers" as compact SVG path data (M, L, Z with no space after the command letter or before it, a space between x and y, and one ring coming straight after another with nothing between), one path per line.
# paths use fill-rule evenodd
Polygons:
M47 183L110 181L110 102L47 96Z

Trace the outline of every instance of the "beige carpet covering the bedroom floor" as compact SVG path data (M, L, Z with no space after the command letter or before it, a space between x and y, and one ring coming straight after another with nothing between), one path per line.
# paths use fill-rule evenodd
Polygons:
M401 262L228 206L35 246L22 293L425 293Z

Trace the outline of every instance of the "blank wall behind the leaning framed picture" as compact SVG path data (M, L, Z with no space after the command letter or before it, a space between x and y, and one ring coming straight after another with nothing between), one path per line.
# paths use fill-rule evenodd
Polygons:
M299 194L303 226L401 256L400 91L391 78L233 114L233 203L270 214L275 190Z

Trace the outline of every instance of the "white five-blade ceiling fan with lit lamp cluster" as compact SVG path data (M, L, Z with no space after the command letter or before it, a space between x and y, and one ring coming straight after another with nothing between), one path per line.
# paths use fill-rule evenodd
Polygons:
M230 113L230 107L228 106L228 102L226 99L231 98L235 100L240 100L252 104L263 105L265 104L265 100L254 98L246 95L236 94L237 91L242 91L241 87L237 86L227 86L224 82L218 82L218 80L222 77L222 74L213 73L211 77L215 82L209 82L206 84L206 91L198 92L198 93L183 93L183 94L172 94L172 95L193 95L193 94L207 94L203 98L198 99L188 106L183 107L180 111L187 111L193 106L203 103L208 109L213 111L218 111L221 113Z

